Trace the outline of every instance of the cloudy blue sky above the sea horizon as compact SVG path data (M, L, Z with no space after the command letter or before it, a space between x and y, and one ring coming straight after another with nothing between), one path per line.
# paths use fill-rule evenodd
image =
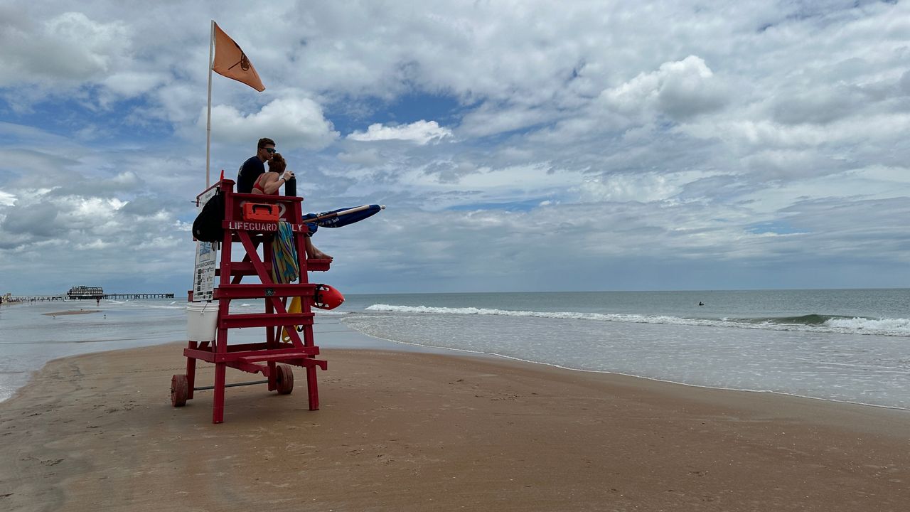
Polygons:
M260 137L341 292L910 286L910 6L0 0L0 293L192 287Z

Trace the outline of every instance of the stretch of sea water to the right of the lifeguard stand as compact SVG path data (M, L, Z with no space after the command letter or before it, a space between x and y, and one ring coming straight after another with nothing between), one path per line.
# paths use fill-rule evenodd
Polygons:
M910 408L910 289L361 295L345 307L350 327L399 343Z

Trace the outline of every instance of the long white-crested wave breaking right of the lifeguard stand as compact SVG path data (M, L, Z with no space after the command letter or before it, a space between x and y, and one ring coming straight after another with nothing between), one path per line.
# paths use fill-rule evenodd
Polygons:
M736 327L743 329L769 329L773 331L811 331L816 333L877 334L884 336L910 336L910 320L905 318L860 318L836 315L807 314L776 318L706 319L682 318L668 315L619 314L599 312L534 312L488 308L443 308L430 306L399 306L373 304L371 312L416 312L435 314L477 314L553 318L560 320L593 320L602 322L666 323L675 325L701 325L709 327Z

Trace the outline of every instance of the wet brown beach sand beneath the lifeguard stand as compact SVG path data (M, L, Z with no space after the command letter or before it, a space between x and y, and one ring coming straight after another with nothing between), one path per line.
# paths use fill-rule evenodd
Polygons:
M170 404L182 347L58 360L0 404L0 509L910 508L907 411L323 350L321 410L295 368L293 394L228 388L212 425L211 392Z

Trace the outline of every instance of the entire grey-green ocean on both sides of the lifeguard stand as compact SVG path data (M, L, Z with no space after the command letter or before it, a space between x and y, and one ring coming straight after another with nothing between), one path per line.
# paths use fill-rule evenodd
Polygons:
M184 306L170 300L0 306L0 400L51 359L185 339ZM74 309L101 311L44 314ZM262 305L236 301L232 309L258 312ZM385 342L344 348L430 347L910 409L910 289L349 295L339 309L318 313L316 342L339 346L344 336L337 333L349 329ZM247 329L230 339L260 336Z

